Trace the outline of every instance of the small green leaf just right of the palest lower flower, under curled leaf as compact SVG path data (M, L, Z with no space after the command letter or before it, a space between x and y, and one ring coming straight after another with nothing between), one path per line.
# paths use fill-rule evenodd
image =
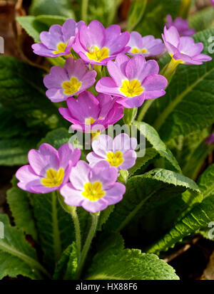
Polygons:
M154 148L146 148L146 153L143 157L138 157L136 159L136 164L128 169L129 177L135 175L142 167L149 164L156 156L158 152Z

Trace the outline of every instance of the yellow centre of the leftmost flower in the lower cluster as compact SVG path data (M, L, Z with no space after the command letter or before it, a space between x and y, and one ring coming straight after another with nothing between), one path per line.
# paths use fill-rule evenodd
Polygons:
M41 179L41 184L46 187L58 187L63 182L64 169L61 167L56 171L55 169L48 169L46 177Z

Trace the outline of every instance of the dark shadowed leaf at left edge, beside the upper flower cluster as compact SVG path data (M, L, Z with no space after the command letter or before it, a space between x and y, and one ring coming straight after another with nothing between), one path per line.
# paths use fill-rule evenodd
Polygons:
M63 122L54 103L46 98L44 71L16 58L0 56L0 103L28 126L54 128ZM59 120L61 119L61 121Z

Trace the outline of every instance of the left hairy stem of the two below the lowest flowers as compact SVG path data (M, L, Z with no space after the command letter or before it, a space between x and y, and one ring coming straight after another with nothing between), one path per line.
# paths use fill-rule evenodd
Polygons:
M80 224L78 221L78 214L76 213L76 206L69 206L67 205L64 200L63 196L58 193L58 201L61 204L62 208L68 212L68 214L71 214L71 217L73 219L75 234L76 234L76 248L77 248L77 254L78 254L78 261L81 258L81 229Z

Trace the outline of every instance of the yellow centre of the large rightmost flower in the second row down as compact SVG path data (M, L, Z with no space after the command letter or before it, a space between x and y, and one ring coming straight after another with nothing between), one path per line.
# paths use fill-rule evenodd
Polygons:
M144 88L141 87L139 80L135 79L123 80L120 90L126 97L134 97L141 95L144 91Z

